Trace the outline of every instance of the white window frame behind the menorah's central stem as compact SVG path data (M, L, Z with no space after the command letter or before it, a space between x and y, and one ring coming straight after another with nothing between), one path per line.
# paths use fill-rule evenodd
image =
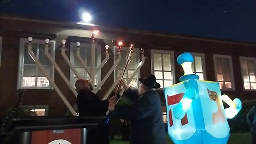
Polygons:
M91 44L88 44L88 43L81 43L81 44L80 44L80 47L91 47ZM95 45L95 48L96 48L95 54L99 53L99 55L97 55L97 61L95 61L95 63L97 63L97 66L99 66L100 63L101 63L101 45L96 44L96 45ZM73 66L74 66L75 68L76 68L76 66L75 66L74 57L76 57L76 52L75 52L75 55L73 55L73 54L71 53L71 51L76 51L76 49L77 49L76 43L71 42L71 43L70 43L70 62L73 64ZM80 49L83 49L83 48L80 48ZM80 67L80 68L83 68L83 67ZM91 69L91 67L89 67L89 69ZM75 75L75 74L74 74L73 70L70 68L70 75L69 75L69 79L70 79L70 80L69 80L69 81L70 81L70 83L73 84L73 85L75 85L75 78L74 78L74 75ZM99 72L97 73L96 77L97 77L97 86L98 86L98 84L101 82L101 70L99 70ZM74 87L74 88L76 89L76 87Z

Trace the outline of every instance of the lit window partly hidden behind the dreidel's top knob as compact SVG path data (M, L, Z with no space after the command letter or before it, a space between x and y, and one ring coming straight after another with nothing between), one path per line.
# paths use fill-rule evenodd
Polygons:
M200 80L206 79L206 70L205 70L205 60L204 60L204 53L195 53L189 52L194 57L194 62L192 63L192 71L196 75L199 76Z

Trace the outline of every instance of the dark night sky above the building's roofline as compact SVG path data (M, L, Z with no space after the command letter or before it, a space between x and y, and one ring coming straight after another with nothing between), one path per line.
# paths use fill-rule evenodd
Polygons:
M256 42L256 0L1 0L1 13L55 21Z

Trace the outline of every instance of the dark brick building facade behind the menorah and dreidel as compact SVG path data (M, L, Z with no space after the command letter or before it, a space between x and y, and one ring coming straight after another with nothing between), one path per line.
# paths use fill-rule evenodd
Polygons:
M23 106L46 108L46 114L49 116L65 115L68 109L58 96L58 93L51 86L49 89L45 89L44 86L38 85L38 82L35 82L34 86L29 87L26 85L31 82L27 78L36 78L36 81L39 81L38 77L43 78L43 76L37 71L38 68L36 68L36 76L34 76L34 73L33 76L29 76L30 72L33 71L31 67L34 66L21 62L23 59L26 62L26 54L24 55L22 47L26 45L26 39L29 36L37 39L42 45L44 44L44 39L49 38L54 42L52 43L54 45L51 46L55 47L55 50L52 52L55 62L57 62L65 76L70 81L73 79L71 82L74 82L74 77L70 74L70 68L62 58L59 50L61 41L62 39L66 39L65 47L68 49L66 54L71 59L71 53L74 51L72 47L76 46L75 43L79 41L81 44L90 44L92 31L95 29L100 30L99 34L95 36L95 42L100 51L100 56L98 55L100 61L98 58L95 58L97 59L96 61L101 62L105 58L103 53L105 52L106 44L109 45L109 52L111 53L106 65L101 69L96 82L103 79L110 67L113 66L113 62L115 61L115 54L113 53L116 51L116 47L112 43L112 39L116 39L117 41L123 41L122 50L127 50L127 47L131 43L134 44L135 48L138 48L134 56L137 58L137 61L140 59L140 48L143 48L145 51L144 54L147 59L137 77L134 77L134 85L138 84L139 77L146 77L151 73L157 75L158 82L162 82L162 87L178 83L179 77L183 75L183 70L176 61L177 57L183 52L191 52L198 60L196 61L198 63L194 65L194 71L201 75L203 79L219 81L222 86L222 94L227 94L232 99L239 97L241 100L252 100L256 97L255 43L6 16L1 16L0 21L0 48L2 50L0 65L0 114L3 114L4 111L15 105L18 100L17 91L22 90L25 91L22 100ZM33 42L35 41L33 40ZM38 51L41 50L40 46L40 44L37 46ZM23 59L21 58L21 53L23 53ZM40 52L38 54L40 55ZM158 57L161 59L160 61L157 60ZM158 66L159 63L161 63L161 67ZM165 65L169 64L170 68L167 68ZM138 63L134 65L138 65ZM27 68L27 72L25 72L25 67ZM122 69L121 66L120 69ZM132 70L134 69L131 68ZM25 76L25 73L27 76ZM70 91L68 85L56 70L52 74L54 76L54 82L63 95L65 95L70 105L75 105L76 97ZM118 67L107 78L107 83L101 86L101 89L97 93L99 97L103 98L110 85L114 83L117 77L116 74L118 74ZM161 76L166 78L161 79ZM26 84L24 84L25 81ZM163 109L165 109L163 90L159 89L157 91L161 95Z

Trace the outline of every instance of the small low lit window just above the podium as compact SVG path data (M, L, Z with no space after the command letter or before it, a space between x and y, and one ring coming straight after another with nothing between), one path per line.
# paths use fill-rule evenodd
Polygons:
M36 105L36 106L21 106L21 108L30 110L36 114L36 116L47 116L48 115L48 106L45 105Z

